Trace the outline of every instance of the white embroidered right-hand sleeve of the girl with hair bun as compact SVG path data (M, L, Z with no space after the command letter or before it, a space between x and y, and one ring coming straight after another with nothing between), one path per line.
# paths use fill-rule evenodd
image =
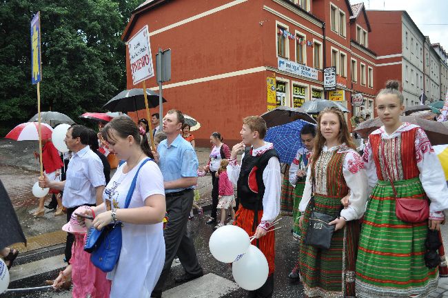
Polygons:
M448 209L448 188L445 174L436 152L425 132L418 128L415 139L417 167L420 181L427 197L431 200L430 212Z

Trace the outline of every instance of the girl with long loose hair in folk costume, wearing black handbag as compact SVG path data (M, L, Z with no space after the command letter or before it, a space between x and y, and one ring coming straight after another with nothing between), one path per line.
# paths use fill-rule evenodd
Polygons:
M343 113L325 108L318 119L314 150L299 211L302 228L300 276L307 297L354 297L355 262L360 224L367 200L363 160L349 137ZM314 189L314 199L312 191ZM349 205L342 200L349 195ZM305 244L309 215L314 211L336 217L328 250Z

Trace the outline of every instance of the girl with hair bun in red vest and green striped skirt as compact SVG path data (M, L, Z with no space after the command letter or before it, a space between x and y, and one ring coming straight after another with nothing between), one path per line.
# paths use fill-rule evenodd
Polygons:
M398 81L388 81L378 93L376 110L384 126L369 135L363 155L373 191L356 261L358 297L427 297L438 284L438 268L425 266L425 239L428 228L440 230L444 221L447 184L425 132L400 121L405 107L398 87ZM429 219L399 219L402 198L429 199Z

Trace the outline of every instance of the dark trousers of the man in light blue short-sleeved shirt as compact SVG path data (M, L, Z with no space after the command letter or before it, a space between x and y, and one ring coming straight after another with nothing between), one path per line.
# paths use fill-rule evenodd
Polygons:
M161 294L165 280L170 273L174 257L177 255L185 272L190 275L199 275L202 272L198 264L196 249L192 239L187 235L187 222L190 210L193 206L193 190L188 190L183 195L166 197L166 209L168 222L163 231L165 238L165 264L159 281L152 290L154 294Z

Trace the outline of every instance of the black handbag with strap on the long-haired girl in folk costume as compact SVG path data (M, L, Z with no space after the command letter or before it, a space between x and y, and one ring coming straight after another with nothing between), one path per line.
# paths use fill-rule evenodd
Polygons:
M329 222L334 221L336 217L314 211L314 181L310 203L312 203L312 212L309 215L307 235L305 235L303 243L316 248L329 249L335 228L335 225L329 225Z

